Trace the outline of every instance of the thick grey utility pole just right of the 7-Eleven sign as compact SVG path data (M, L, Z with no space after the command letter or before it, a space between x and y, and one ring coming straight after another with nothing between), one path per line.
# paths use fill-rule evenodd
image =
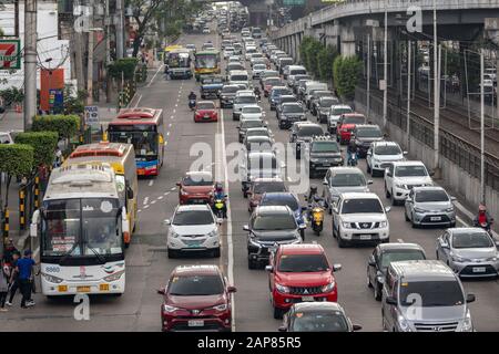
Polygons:
M37 114L37 0L24 2L24 132Z

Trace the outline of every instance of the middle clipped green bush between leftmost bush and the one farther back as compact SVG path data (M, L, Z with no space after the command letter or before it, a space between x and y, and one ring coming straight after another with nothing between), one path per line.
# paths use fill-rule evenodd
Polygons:
M16 144L26 144L33 147L34 166L50 166L53 163L55 147L58 146L55 132L28 132L16 136Z

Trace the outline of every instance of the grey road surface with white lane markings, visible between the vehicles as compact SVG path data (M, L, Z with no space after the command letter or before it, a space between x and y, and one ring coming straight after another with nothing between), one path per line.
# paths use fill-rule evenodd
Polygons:
M217 46L218 37L214 34L184 35L181 42L194 43L201 48L207 40L212 40ZM234 298L236 331L277 330L281 321L273 319L267 274L264 270L247 269L246 233L243 231L249 217L247 199L242 196L240 183L225 178L231 154L223 146L237 143L237 122L232 121L231 110L221 110L218 123L195 124L186 104L186 96L191 91L198 91L194 80L166 81L162 69L150 84L139 91L140 106L164 111L165 164L157 178L140 180L139 228L126 253L125 294L121 298L91 298L89 321L74 319L77 304L72 298L48 300L37 293L37 305L22 310L18 295L14 306L0 314L0 331L157 332L162 299L156 294L156 289L165 284L176 266L205 263L218 263L237 288ZM263 100L263 107L275 139L287 142L288 133L278 129L275 114L269 111L266 100ZM313 116L309 118L315 119ZM172 217L177 205L176 181L193 168L193 162L200 160L198 154L210 157L204 168L213 168L217 180L225 181L228 186L230 219L222 226L222 257L171 260L166 257L164 220ZM365 170L364 160L360 162L360 168ZM322 191L322 180L315 179L313 183ZM371 190L388 204L384 197L383 178L375 178ZM429 258L435 258L435 244L440 229L411 229L404 220L401 207L393 208L389 222L391 241L417 242L425 248ZM336 275L338 302L353 322L363 325L364 331L381 331L380 304L366 285L367 258L373 247L338 249L332 237L330 216L326 216L325 225L320 237L307 230L306 241L317 241L325 248L332 262L343 264L343 270ZM477 301L470 305L476 329L498 331L499 282L465 281L464 284L467 292L477 295Z

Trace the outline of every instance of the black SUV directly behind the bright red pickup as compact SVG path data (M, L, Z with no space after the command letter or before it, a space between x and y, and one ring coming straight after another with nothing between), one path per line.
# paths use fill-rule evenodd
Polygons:
M299 227L289 207L256 207L247 231L247 268L267 266L276 244L302 243Z

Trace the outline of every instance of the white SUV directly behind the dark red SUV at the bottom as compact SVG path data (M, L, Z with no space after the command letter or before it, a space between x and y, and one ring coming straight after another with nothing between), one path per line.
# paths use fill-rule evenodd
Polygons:
M170 226L166 236L169 258L175 258L181 252L208 252L220 258L220 233L217 220L211 206L180 205L173 212L172 220L165 220Z

